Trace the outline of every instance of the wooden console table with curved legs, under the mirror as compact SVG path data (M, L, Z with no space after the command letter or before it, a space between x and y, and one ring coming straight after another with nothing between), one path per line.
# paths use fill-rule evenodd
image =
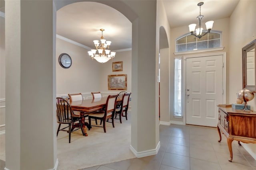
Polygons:
M219 107L219 106L218 106ZM232 109L232 107L219 107L218 109L218 133L227 137L228 149L230 152L229 162L232 162L232 142L233 140L242 143L256 143L256 111L242 111Z

